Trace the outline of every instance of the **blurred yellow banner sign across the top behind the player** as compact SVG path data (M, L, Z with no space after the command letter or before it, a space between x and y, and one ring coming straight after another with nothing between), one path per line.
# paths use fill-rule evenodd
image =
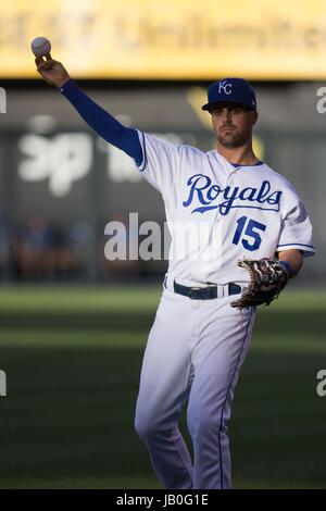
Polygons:
M48 37L74 77L323 79L325 0L1 0L0 77Z

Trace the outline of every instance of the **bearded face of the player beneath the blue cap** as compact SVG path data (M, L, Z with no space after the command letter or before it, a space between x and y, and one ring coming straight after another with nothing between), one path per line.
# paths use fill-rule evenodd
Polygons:
M221 103L212 110L212 123L217 141L226 148L243 146L251 139L258 113L246 107Z

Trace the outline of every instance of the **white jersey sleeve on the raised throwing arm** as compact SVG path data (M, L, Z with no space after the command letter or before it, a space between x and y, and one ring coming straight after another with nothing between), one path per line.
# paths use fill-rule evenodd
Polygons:
M161 194L173 192L174 176L179 166L178 146L167 140L137 130L142 149L138 166L143 177Z

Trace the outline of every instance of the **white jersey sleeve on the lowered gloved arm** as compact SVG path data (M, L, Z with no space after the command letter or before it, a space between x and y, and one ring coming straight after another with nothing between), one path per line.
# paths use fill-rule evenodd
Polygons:
M310 257L315 253L312 238L312 225L305 208L299 198L297 198L297 201L284 219L277 245L277 251L290 249L302 250L303 256L305 257Z

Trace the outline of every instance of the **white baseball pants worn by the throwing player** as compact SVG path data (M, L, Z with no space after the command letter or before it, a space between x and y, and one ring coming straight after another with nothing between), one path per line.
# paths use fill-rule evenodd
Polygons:
M192 300L164 289L145 350L135 427L165 488L230 488L226 423L255 310L237 297ZM193 463L178 421L188 399Z

